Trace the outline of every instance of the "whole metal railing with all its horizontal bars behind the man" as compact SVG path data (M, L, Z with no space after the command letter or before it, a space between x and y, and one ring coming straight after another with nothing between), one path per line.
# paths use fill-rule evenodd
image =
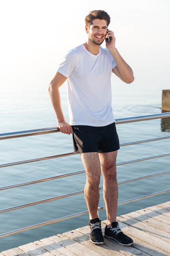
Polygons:
M126 123L132 123L132 122L137 122L137 121L146 121L146 120L162 119L162 118L169 118L169 117L170 117L170 112L166 112L166 113L161 113L161 114L156 114L156 115L145 115L145 116L139 116L139 117L129 117L129 118L117 119L116 124L126 124ZM36 130L25 130L25 131L19 131L19 132L8 132L8 133L0 134L0 140L27 137L27 136L33 136L33 135L43 135L43 134L49 134L49 133L54 133L54 132L60 132L60 130L56 127L53 127L53 128L43 128L43 129L36 129ZM132 141L132 142L125 143L125 144L120 144L120 146L121 147L122 146L129 146L129 145L141 144L141 143L146 143L146 142L151 142L151 141L158 141L158 140L163 140L163 139L170 139L170 136L158 137L158 138L154 138L154 139L146 139L146 140L141 140L141 141ZM65 156L69 156L69 155L74 155L74 153L73 152L72 153L65 153L65 154L61 154L61 155L53 155L53 156L47 156L47 157L42 157L42 158L27 159L27 160L19 161L19 162L11 162L11 163L7 163L7 164L0 164L0 168L5 168L7 166L14 166L14 165L19 165L19 164L26 164L26 163L31 163L31 162L37 162L37 161L43 161L43 160L53 159L53 158L57 158L57 157L65 157ZM120 162L120 163L117 163L117 166L124 165L124 164L135 163L135 162L141 162L141 161L145 161L145 160L148 160L148 159L156 159L156 158L160 158L160 157L167 157L167 156L170 156L170 153L163 154L163 155L154 155L154 156L145 157L145 158L141 158L141 159L134 159L134 160L131 160L131 161L126 161L126 162ZM68 177L68 176L82 174L82 173L85 173L85 171L84 170L83 171L76 171L76 172L73 172L73 173L66 173L64 175L57 175L57 176L47 177L47 178L39 179L39 180L33 180L33 181L29 181L29 182L22 182L22 183L18 183L18 184L12 184L12 185L9 185L9 186L2 186L2 187L0 187L0 191L6 190L6 189L16 188L16 187L20 187L20 186L27 186L27 185L30 185L30 184L36 184L36 183L40 183L40 182L46 182L46 181L49 181L49 180L56 180L56 179L60 179L60 178L63 178L63 177ZM145 175L145 176L141 176L141 177L137 177L137 178L133 178L133 179L129 179L129 180L124 180L124 181L118 182L118 185L129 183L129 182L135 182L137 180L142 180L142 179L155 177L155 176L158 176L158 175L164 175L164 174L168 174L168 173L170 173L170 171L163 171L163 172L154 173L154 174L151 174L151 175ZM100 186L99 189L103 189L103 186ZM167 193L167 192L170 192L170 189L166 189L166 190L163 190L163 191L158 191L156 193L151 193L151 194L144 195L144 196L137 197L137 198L132 198L130 200L124 200L122 202L118 202L118 205L127 204L129 202L135 202L137 200L146 199L146 198L149 198L149 197L152 197L152 196L155 196L155 195L160 195L160 194ZM39 201L27 203L27 204L21 204L21 205L15 206L15 207L0 209L0 213L6 213L6 212L13 211L13 210L16 210L16 209L22 209L22 208L25 208L25 207L30 207L30 206L33 206L33 205L42 204L42 203L50 202L50 201L53 201L53 200L59 200L61 198L67 198L67 197L74 196L74 195L79 195L79 194L82 194L82 193L84 193L83 190L82 191L77 191L77 192L74 192L74 193L68 193L68 194L65 194L65 195L60 195L60 196L53 197L53 198L47 198L45 200L39 200ZM98 207L99 211L101 211L102 209L106 209L106 207L105 206ZM49 221L42 222L42 223L39 223L39 224L36 224L36 225L32 225L32 226L29 226L29 227L24 227L22 229L17 229L17 230L14 230L14 231L10 231L10 232L4 233L4 234L0 234L0 238L5 237L5 236L9 236L9 235L13 235L13 234L17 234L17 233L20 233L22 231L27 231L27 230L30 230L30 229L34 229L34 228L37 228L37 227L42 227L42 226L45 226L45 225L49 225L49 224L59 222L59 221L62 221L62 220L82 216L82 215L87 214L87 213L88 213L88 211L82 211L82 212L71 214L71 215L68 215L68 216L65 216L65 217L62 217L62 218L57 218L57 219L54 219L54 220L49 220Z

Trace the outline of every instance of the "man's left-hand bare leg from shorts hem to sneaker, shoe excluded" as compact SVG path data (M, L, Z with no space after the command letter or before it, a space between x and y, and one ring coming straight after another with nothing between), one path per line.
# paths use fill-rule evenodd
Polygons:
M86 185L84 188L84 197L89 211L90 219L99 218L99 182L101 167L97 152L80 154L82 163L86 171Z

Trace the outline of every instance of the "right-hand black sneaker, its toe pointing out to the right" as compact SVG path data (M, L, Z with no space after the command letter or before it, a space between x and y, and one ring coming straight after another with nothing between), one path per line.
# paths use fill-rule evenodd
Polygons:
M105 227L104 237L112 238L116 240L120 245L130 246L133 244L133 240L121 231L117 221L112 222L112 227Z

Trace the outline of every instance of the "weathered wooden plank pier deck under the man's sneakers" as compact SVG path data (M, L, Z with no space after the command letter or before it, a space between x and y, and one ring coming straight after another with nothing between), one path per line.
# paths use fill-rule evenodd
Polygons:
M130 247L104 238L104 245L89 241L89 227L44 238L0 253L0 256L170 256L170 202L117 217L122 231L132 237ZM102 221L102 231L106 221Z

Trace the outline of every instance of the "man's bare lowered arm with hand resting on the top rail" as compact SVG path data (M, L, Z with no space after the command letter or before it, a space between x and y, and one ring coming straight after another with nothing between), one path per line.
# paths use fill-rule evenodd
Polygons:
M49 95L57 117L58 128L60 129L60 132L71 134L73 132L73 129L71 125L69 125L64 119L59 91L60 86L66 81L66 79L66 76L63 76L62 74L57 72L49 85Z

